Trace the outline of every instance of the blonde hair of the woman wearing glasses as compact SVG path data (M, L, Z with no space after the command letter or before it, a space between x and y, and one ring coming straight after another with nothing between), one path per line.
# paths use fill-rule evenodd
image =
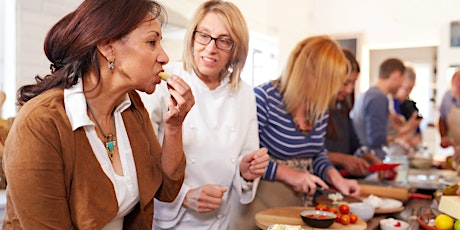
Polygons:
M184 69L196 72L195 63L193 59L193 34L198 24L210 12L217 14L230 33L230 37L234 42L233 48L230 51L231 57L225 68L220 72L220 79L229 75L229 84L233 90L236 90L238 83L241 80L240 74L243 70L248 55L249 47L249 32L243 14L238 7L226 1L210 0L201 4L195 12L191 20L191 25L188 27L185 34L185 44L183 52Z

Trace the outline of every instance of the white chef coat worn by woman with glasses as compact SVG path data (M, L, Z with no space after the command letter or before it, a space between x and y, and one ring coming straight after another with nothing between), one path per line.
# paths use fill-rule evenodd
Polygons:
M252 188L243 189L247 183L239 171L242 156L259 149L254 92L243 81L237 91L231 91L228 78L210 90L194 72L185 71L181 63L166 66L166 72L180 76L190 85L195 105L182 128L187 157L184 183L174 202L155 200L153 229L228 229L232 208L236 208L232 207L235 206L232 201L239 199L242 204L250 203L259 183L257 179ZM170 97L166 84L157 85L154 94L141 97L162 143L162 120ZM183 207L187 191L205 184L220 184L228 189L220 208L197 213Z

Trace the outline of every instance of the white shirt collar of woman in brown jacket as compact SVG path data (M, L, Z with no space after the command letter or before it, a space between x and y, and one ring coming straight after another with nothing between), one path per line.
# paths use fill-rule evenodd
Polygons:
M128 94L125 94L124 97L114 112L121 113L131 106ZM64 107L73 131L83 126L94 125L86 112L86 98L81 80L71 88L64 89Z

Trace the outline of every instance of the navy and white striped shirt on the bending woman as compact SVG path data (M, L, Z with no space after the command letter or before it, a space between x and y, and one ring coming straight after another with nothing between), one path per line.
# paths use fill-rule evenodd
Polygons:
M333 167L324 147L329 115L314 124L312 132L303 134L271 82L255 87L254 92L261 147L266 147L268 154L276 159L312 158L314 174L325 180L326 171ZM277 167L278 163L271 161L263 179L274 180Z

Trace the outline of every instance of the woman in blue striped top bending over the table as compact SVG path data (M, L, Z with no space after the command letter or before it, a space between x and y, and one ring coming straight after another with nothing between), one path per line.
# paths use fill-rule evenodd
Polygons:
M328 36L300 41L281 76L254 88L260 145L270 164L255 200L241 207L239 229L257 229L254 215L279 206L304 206L317 187L357 196L356 180L343 178L324 147L328 104L343 85L347 59Z

